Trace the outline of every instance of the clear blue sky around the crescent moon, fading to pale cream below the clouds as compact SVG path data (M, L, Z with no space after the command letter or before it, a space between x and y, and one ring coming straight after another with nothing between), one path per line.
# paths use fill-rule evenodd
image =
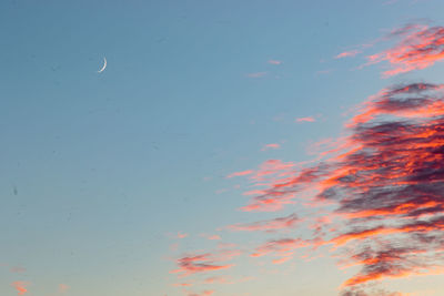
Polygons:
M442 1L389 2L1 1L0 294L21 280L34 296L188 295L170 271L214 248L205 235L242 251L272 238L218 232L276 216L238 211L248 183L226 175L310 160L369 95L444 74L381 79L381 64L356 70L363 57L334 59L408 22L444 23ZM236 259L226 273L256 280L189 295L330 296L347 277L334 258Z

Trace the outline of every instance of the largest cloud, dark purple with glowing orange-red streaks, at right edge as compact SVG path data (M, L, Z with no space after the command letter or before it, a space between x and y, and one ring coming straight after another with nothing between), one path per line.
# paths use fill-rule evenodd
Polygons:
M251 256L274 255L280 263L296 248L331 246L342 265L361 267L343 283L344 293L364 293L370 282L442 273L443 93L443 85L431 83L380 91L361 105L346 125L350 135L326 160L252 191L250 207L291 202L309 190L313 203L330 210L312 217L310 239L269 241ZM336 221L322 220L325 215ZM366 295L356 293L344 295Z

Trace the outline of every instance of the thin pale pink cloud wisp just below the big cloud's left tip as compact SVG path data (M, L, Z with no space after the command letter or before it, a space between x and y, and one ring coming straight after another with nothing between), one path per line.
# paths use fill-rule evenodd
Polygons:
M269 221L260 221L246 224L233 224L226 228L234 232L275 232L280 229L293 228L301 220L296 214L291 214L286 217L279 217Z

